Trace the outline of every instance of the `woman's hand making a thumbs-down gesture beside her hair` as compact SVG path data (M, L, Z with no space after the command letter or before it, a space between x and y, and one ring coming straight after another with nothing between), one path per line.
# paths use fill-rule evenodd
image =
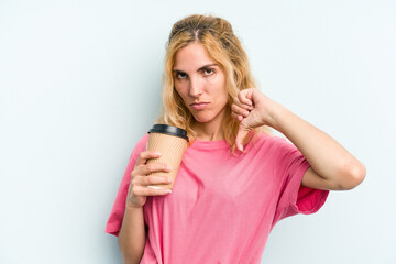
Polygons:
M261 125L274 127L271 111L276 103L256 88L241 90L231 106L232 117L240 121L237 147L243 151L243 140L249 131Z

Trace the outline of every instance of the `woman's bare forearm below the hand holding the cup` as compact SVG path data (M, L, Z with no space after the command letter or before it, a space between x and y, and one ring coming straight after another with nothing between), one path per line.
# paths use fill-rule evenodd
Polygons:
M140 263L145 245L143 208L128 207L119 233L119 248L124 264Z

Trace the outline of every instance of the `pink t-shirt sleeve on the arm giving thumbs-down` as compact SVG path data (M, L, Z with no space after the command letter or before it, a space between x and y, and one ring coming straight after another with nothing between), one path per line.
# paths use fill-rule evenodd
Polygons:
M301 152L286 140L279 142L274 162L279 164L276 169L282 177L278 204L274 217L277 221L297 213L317 212L329 195L329 190L314 189L301 186L304 174L310 167Z

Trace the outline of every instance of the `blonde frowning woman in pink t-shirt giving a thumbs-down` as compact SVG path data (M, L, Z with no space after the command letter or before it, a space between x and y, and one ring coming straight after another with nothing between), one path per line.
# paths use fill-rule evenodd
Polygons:
M248 57L223 19L191 15L169 35L160 122L193 140L170 191L161 153L131 154L107 232L124 263L260 263L280 219L314 213L365 167L333 139L254 88ZM261 132L271 127L286 140Z

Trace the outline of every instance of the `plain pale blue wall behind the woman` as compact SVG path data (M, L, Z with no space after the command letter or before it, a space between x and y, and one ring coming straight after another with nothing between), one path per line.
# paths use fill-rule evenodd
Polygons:
M367 167L279 222L262 262L396 263L392 0L0 0L0 262L121 263L106 221L158 113L167 35L191 13L228 19L260 88Z

